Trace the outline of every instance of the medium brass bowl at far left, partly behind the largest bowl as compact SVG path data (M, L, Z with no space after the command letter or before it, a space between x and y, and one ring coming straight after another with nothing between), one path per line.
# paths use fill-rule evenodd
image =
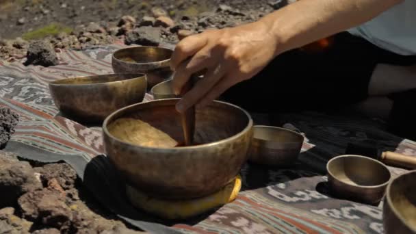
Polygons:
M49 83L58 109L80 122L102 122L117 109L140 103L146 75L109 74L61 79Z

